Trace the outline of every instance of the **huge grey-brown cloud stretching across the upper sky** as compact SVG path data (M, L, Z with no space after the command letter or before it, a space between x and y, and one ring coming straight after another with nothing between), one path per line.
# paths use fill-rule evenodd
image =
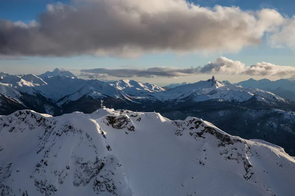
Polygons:
M284 20L273 9L208 8L186 0L75 0L47 5L38 23L0 20L0 54L237 52L260 44Z

